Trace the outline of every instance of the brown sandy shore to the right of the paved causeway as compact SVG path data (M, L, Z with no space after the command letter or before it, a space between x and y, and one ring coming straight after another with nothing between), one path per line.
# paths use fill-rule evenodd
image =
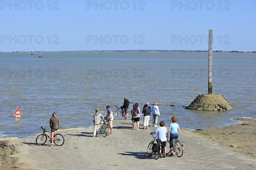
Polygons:
M256 120L250 118L234 118L234 120L241 122L230 126L211 127L192 132L212 138L230 150L256 158Z

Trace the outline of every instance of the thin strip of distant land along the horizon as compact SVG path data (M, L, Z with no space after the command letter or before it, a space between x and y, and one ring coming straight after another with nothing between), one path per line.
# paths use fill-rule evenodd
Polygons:
M0 52L0 53L30 53L31 51L12 51L12 52ZM40 51L33 51L40 52ZM76 51L41 51L41 52L208 52L208 50L76 50ZM221 51L216 50L213 52L224 52L224 53L256 53L256 51Z

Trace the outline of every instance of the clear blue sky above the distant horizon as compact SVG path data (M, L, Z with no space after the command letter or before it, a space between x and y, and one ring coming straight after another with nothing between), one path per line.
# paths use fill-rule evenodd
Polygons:
M0 0L0 51L256 51L255 0Z

